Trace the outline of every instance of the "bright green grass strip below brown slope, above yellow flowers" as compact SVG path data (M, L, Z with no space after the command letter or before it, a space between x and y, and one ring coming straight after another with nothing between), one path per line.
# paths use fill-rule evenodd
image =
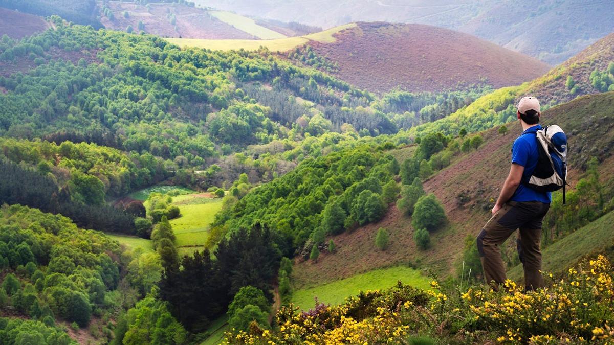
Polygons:
M303 310L314 307L315 297L327 304L340 304L347 297L357 295L360 291L387 289L397 284L397 281L421 289L430 287L430 279L422 276L417 269L396 266L375 269L324 285L296 290L292 293L291 301Z

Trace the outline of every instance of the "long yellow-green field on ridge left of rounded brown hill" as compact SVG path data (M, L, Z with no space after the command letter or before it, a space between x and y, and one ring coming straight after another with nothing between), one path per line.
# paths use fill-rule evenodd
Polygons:
M309 41L332 43L335 42L333 34L344 29L353 28L356 23L335 26L319 33L308 34L305 36L287 37L282 39L191 39L191 38L166 38L166 41L179 47L207 48L211 50L257 50L266 47L272 52L286 52L292 48L306 44Z

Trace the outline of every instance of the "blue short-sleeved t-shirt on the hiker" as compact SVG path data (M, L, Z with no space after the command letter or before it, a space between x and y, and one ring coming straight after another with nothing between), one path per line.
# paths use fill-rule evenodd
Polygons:
M535 166L537 166L539 151L537 147L537 138L535 138L535 131L541 129L542 126L539 124L527 128L527 130L514 141L514 145L511 147L511 163L524 166L523 179L516 189L516 192L511 197L511 201L539 201L545 204L550 204L552 202L550 192L537 192L525 184L526 181L529 180L531 174L533 174Z

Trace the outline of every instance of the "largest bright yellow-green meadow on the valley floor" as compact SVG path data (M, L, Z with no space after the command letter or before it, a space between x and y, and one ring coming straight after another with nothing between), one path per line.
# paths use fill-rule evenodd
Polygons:
M179 206L181 217L170 221L179 254L192 254L209 238L209 224L217 211L222 208L222 199L211 199L198 194L173 197L173 204Z

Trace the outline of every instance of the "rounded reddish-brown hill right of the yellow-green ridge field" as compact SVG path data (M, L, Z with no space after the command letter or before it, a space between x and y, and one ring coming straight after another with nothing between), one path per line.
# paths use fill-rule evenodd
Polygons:
M358 23L335 36L334 43L310 45L338 63L341 79L376 92L440 91L483 82L499 88L549 69L529 56L434 26Z

